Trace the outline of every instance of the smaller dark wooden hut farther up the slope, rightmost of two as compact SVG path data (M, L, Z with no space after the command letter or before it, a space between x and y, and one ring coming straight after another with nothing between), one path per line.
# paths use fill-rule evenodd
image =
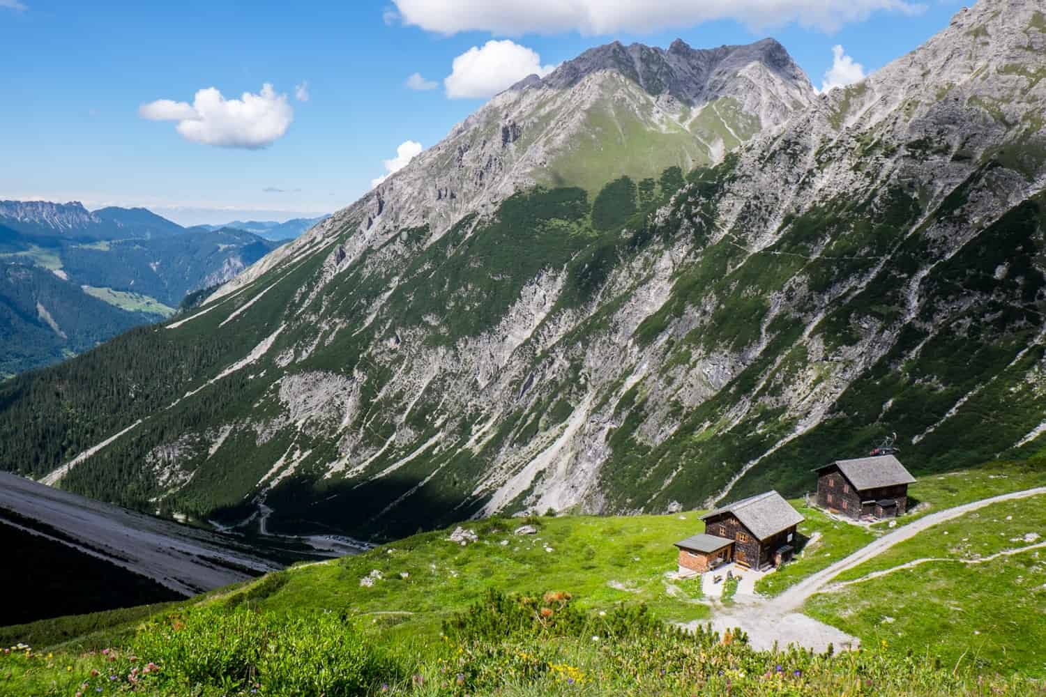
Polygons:
M908 485L915 483L892 455L836 460L814 471L817 505L855 519L902 515L908 508Z

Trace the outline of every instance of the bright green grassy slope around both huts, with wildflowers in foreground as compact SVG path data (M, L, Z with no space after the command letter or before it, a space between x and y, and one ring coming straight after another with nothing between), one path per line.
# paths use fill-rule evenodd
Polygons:
M991 463L927 480L912 487L918 510L900 522L917 519L926 510L1036 486L1044 479L1046 467L1040 461ZM942 524L843 578L920 556L946 556L956 545L963 555L981 556L1026 545L1029 532L1046 534L1041 498L1046 497L999 504ZM810 509L803 513L804 533L820 535L795 562L766 577L765 582L776 579L764 588L768 593L822 568L881 532ZM536 526L538 532L516 535L515 529L524 524ZM708 615L696 582L664 578L676 567L672 542L702 529L695 512L490 518L462 528L475 533L476 539L467 536L462 545L449 539L450 529L423 533L358 556L293 566L178 605L0 629L0 643L31 642L59 652L49 659L37 654L37 663L20 655L16 664L13 658L7 682L0 665L0 694L72 694L83 681L93 689L89 671L111 670L110 659L96 653L108 646L123 647L120 657L113 659L120 664L113 671L117 689L134 687L124 677L132 667L127 656L138 652L142 661L156 660L168 671L162 680L150 683L156 694L250 694L251 684L244 681L217 683L225 684L224 692L215 688L212 693L201 687L203 682L192 683L198 690L192 692L185 680L196 675L192 666L199 667L200 660L218 660L208 653L219 651L215 642L225 643L222 660L231 661L229 656L241 650L231 644L240 641L235 637L260 632L271 637L266 640L271 646L285 651L303 646L300 642L306 640L298 633L303 626L313 627L317 645L328 649L333 638L320 636L324 632L341 636L342 644L372 646L374 655L357 656L353 665L377 660L385 672L379 671L374 679L400 694L660 695L696 689L701 694L746 695L1031 694L1040 688L1023 678L1043 677L1046 565L1034 552L976 567L922 564L815 597L808 611L857 633L870 649L833 659L795 651L760 654L742 646L718 654L728 646L722 637L707 644L707 637L699 635L681 643L672 632L651 629L662 626L657 620ZM554 593L542 599L546 590ZM500 591L521 593L529 600L505 598ZM649 610L636 610L639 603ZM524 608L523 615L519 607ZM538 612L541 607L549 608L556 619ZM245 610L250 617L243 614ZM517 615L538 618L533 632L523 631L513 624L515 620L511 627L499 624ZM151 621L142 625L147 618ZM520 622L527 625L530 620ZM632 629L618 633L617 623ZM593 635L605 643L592 640ZM176 645L183 648L176 650ZM709 673L701 661L712 655L719 655L712 665L722 668ZM327 656L334 660L331 656L334 653ZM304 670L298 664L319 659L302 649L282 660L298 666L294 670ZM270 673L275 670L274 655L251 660L255 667L268 666L265 671ZM778 665L787 668L786 674L777 676ZM71 670L65 671L66 666ZM735 671L730 674L732 687L717 682L726 675L718 670ZM793 675L795 670L801 676ZM985 681L983 676L995 671L1018 677ZM457 682L458 675L464 676L462 682ZM789 676L792 682L786 679ZM55 688L63 684L71 686L69 692ZM282 684L278 681L257 684L262 694L294 694L277 689ZM103 686L108 692L110 686ZM376 682L362 692L326 694L368 694L371 689L381 691Z

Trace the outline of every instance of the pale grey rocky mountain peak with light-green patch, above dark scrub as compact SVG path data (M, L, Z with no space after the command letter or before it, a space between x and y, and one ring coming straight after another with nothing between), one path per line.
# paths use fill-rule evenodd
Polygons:
M622 176L639 181L669 166L688 171L780 125L816 96L772 39L711 49L682 40L668 49L618 41L595 46L545 77L528 75L495 95L276 257L348 226L360 234L338 262L345 265L402 228L428 226L437 238L469 213L490 212L535 185L577 186L594 196ZM650 139L634 137L639 133ZM266 268L247 270L220 293Z

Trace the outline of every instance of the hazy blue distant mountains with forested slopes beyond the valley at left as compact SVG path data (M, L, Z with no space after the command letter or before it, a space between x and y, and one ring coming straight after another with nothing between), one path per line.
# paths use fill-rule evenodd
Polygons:
M188 294L278 246L241 229L183 228L144 208L0 201L0 377L170 317Z

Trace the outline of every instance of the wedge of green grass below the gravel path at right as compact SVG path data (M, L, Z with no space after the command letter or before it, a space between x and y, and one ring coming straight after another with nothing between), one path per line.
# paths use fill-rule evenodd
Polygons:
M841 574L868 580L815 596L805 609L865 644L1046 678L1046 549L1028 549L1044 536L1046 496L995 504ZM1004 552L1013 554L996 557Z

